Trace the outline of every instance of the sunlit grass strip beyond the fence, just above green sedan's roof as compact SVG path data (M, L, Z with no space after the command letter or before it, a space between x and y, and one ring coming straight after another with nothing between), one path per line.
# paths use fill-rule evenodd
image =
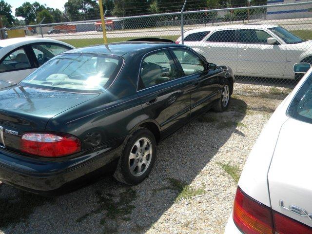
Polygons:
M108 43L113 43L113 42L120 42L120 41L126 41L130 39L136 39L138 37L126 37L126 38L108 38L107 41ZM173 41L176 41L176 39L179 38L179 35L174 35L174 36L161 36L161 38L164 39L171 39ZM63 39L61 41L64 41L68 44L71 44L75 47L84 47L84 46L89 46L89 45L98 45L98 44L103 44L103 39L102 38L92 38L92 39Z

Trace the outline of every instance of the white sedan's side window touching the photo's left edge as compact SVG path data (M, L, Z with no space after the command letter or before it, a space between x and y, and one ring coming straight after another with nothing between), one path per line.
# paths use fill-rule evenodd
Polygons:
M30 68L31 64L23 48L11 52L0 63L0 72L10 72Z

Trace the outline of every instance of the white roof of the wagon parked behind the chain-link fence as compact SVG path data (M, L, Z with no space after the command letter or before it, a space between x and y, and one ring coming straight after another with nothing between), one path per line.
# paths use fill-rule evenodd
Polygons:
M234 24L234 25L221 25L221 26L211 26L211 27L203 27L198 29L192 29L187 31L185 34L205 32L205 31L216 31L222 29L268 29L278 27L278 25L274 24L257 24L257 23L247 23L247 24Z

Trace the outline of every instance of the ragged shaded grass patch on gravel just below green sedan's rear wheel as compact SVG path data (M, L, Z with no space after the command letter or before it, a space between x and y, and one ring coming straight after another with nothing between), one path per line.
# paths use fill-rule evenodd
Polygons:
M95 210L82 215L76 222L82 222L84 219L88 218L90 215L103 213L104 216L100 220L100 224L105 225L105 231L117 232L117 229L109 229L107 219L109 220L125 220L130 221L130 215L136 207L131 205L131 202L137 198L137 192L132 188L129 188L125 192L121 192L117 195L111 193L102 194L100 191L96 191L96 196L98 197L98 208Z

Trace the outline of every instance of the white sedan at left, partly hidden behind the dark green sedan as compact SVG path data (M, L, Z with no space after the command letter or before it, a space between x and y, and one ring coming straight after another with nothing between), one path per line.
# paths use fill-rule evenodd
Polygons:
M0 80L18 83L47 60L74 48L65 42L44 38L0 40Z

